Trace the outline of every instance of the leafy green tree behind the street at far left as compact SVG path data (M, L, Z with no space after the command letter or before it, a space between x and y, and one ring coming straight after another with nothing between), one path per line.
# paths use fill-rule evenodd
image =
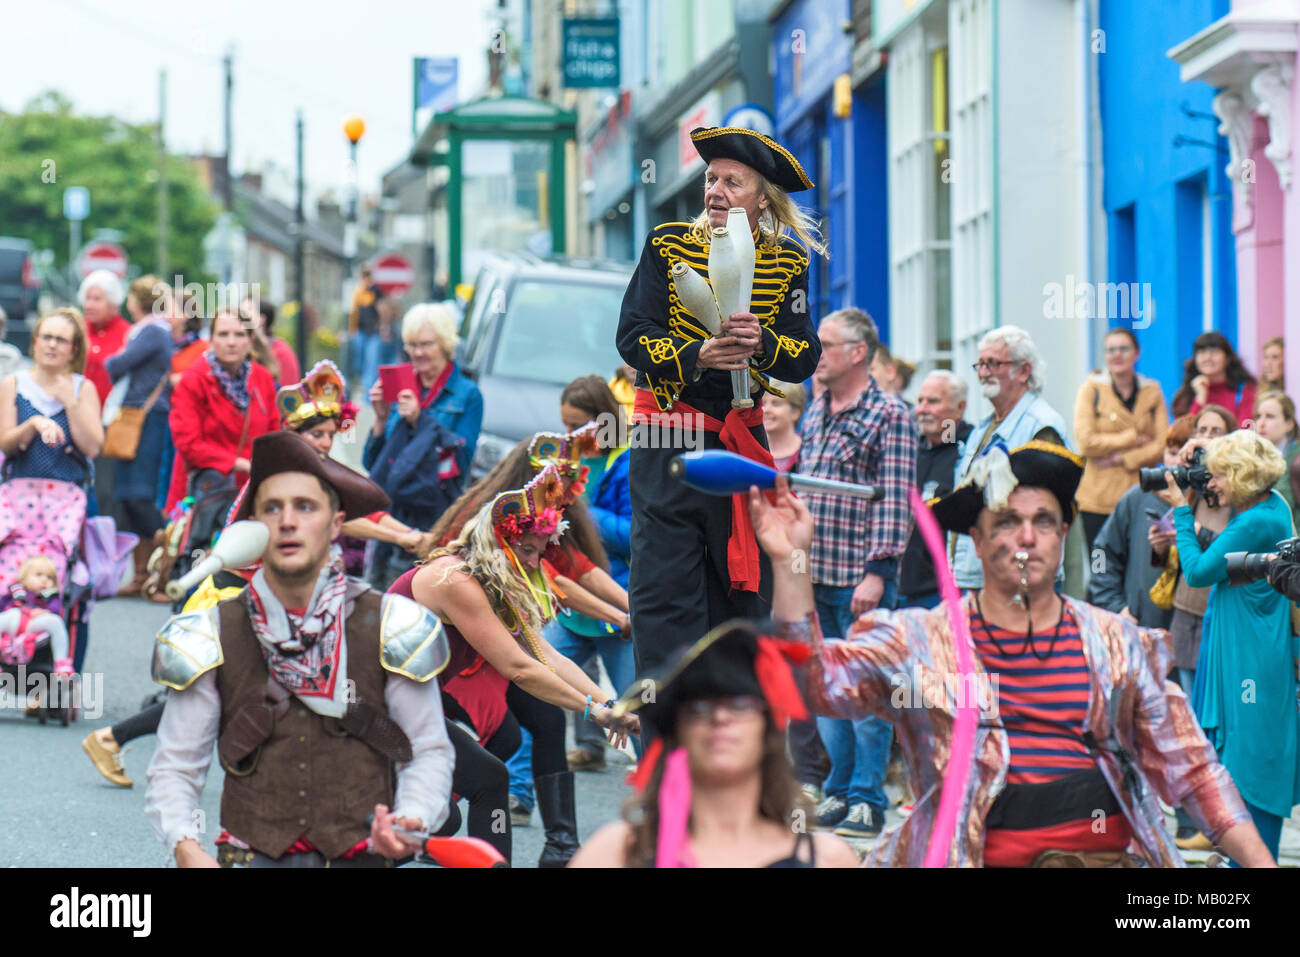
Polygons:
M216 207L185 157L168 156L166 164L170 274L162 278L170 282L179 273L186 282L209 282L203 237ZM77 116L72 100L57 91L31 100L22 113L0 113L0 234L53 250L58 267L68 260L64 190L84 186L91 203L83 233L120 230L131 264L153 270L157 182L153 125Z

